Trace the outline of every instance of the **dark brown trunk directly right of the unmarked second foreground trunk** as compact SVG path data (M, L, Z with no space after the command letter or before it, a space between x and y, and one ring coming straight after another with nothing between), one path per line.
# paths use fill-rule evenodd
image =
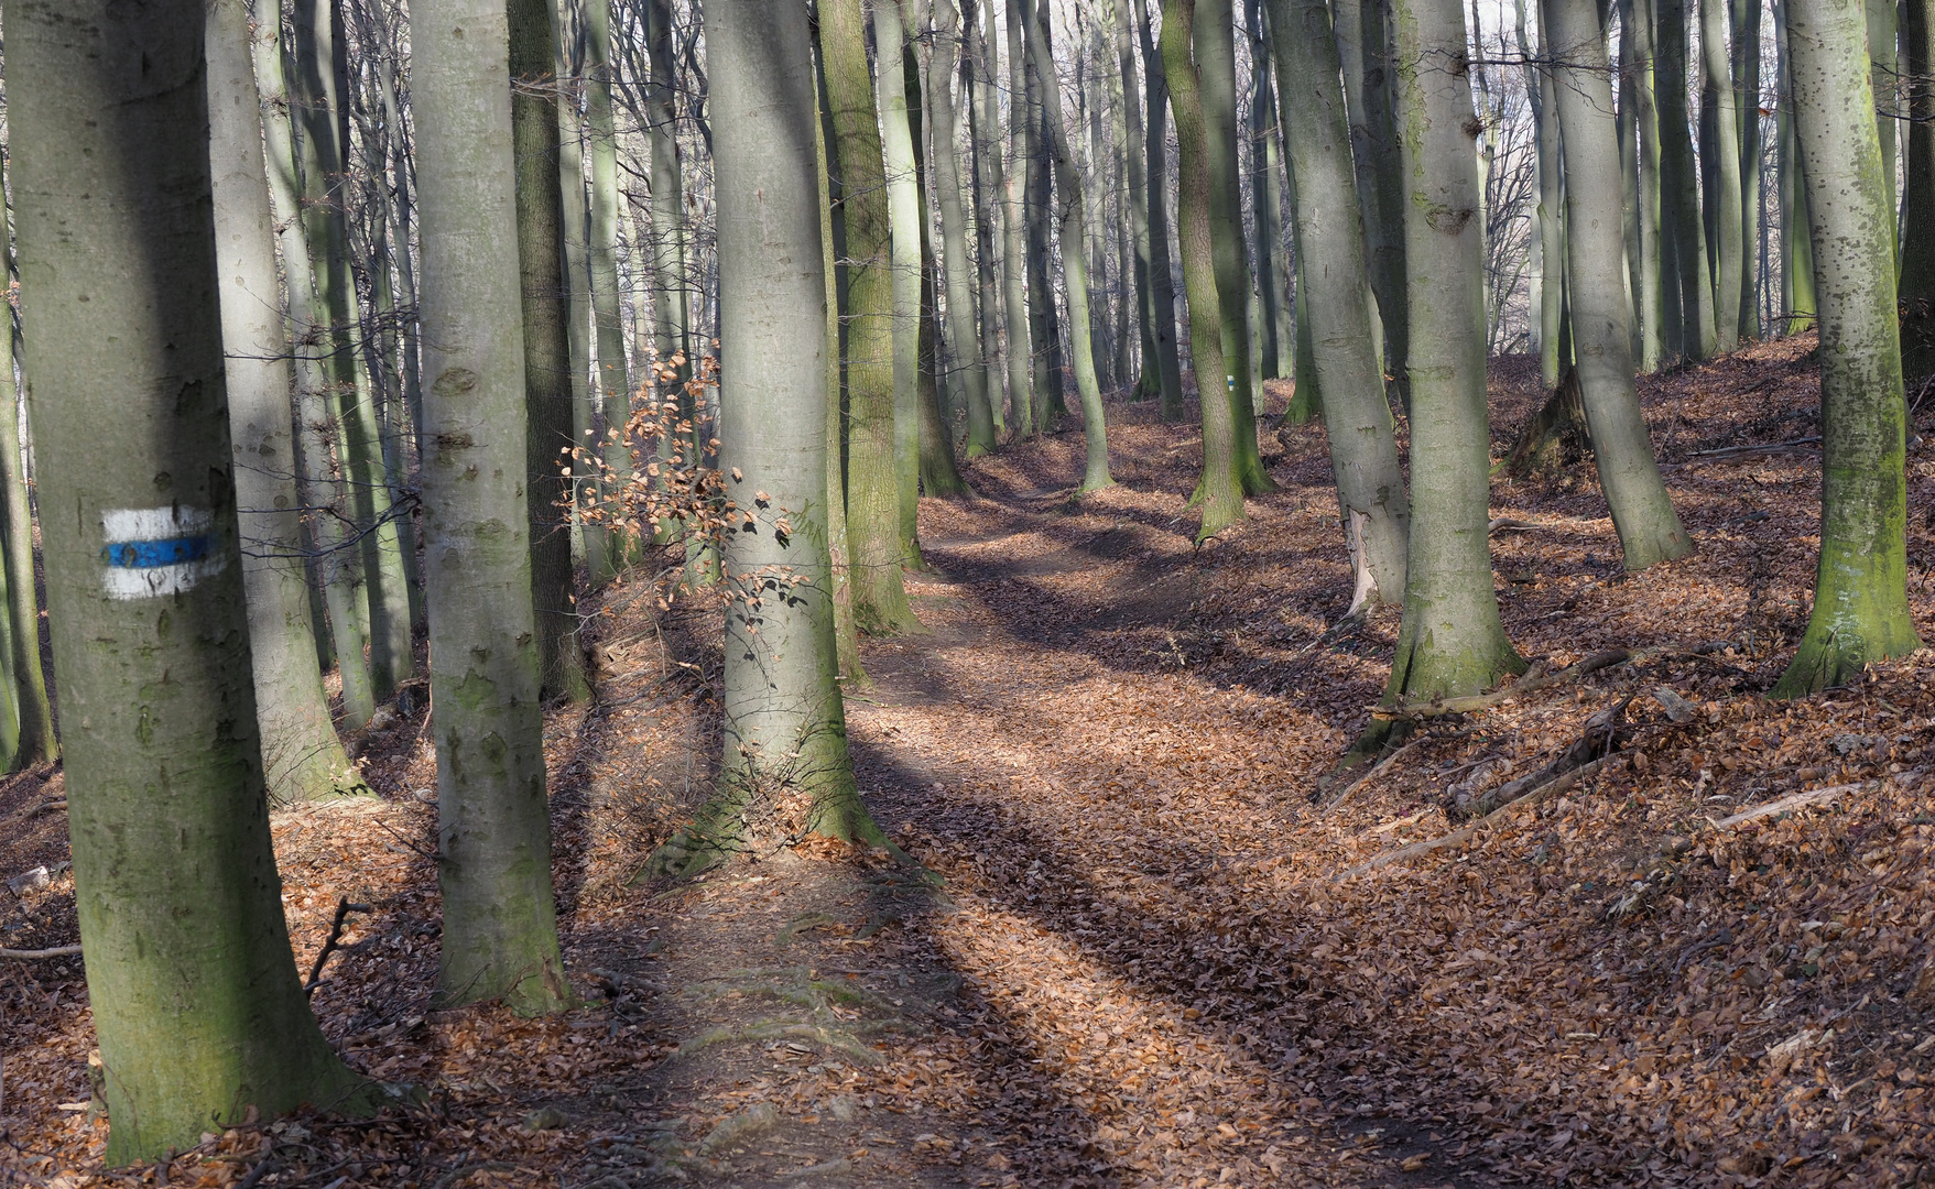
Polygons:
M524 313L524 435L530 491L530 597L538 626L540 696L590 694L571 566L573 392L565 319L565 201L557 176L557 6L507 0L511 135L517 159L517 263Z

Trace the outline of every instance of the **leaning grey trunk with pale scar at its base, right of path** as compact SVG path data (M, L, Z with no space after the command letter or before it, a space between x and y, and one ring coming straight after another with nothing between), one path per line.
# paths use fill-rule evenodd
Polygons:
M1337 39L1325 0L1273 0L1269 29L1283 93L1283 131L1296 176L1302 302L1324 427L1337 479L1337 518L1356 586L1351 609L1405 597L1411 508L1397 462L1397 429L1364 286L1364 230L1351 160ZM1298 377L1302 387L1304 377Z

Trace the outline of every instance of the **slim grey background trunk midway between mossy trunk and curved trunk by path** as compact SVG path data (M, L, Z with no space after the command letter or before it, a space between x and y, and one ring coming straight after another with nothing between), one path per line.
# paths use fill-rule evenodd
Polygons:
M954 66L962 60L962 15L954 0L935 0L935 44L927 66L927 112L935 141L935 205L940 207L940 276L948 294L948 346L968 389L968 456L995 447L995 412L987 362L973 317L973 267L968 263L968 215L962 211L962 166L954 110ZM979 449L977 449L979 447Z

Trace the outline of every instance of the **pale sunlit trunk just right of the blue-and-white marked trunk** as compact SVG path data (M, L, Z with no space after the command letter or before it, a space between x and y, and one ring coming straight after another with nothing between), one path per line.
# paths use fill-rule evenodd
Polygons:
M329 719L315 659L288 404L296 369L275 267L275 217L269 209L263 110L250 58L246 0L209 4L207 72L228 433L244 543L255 721L269 795L312 800L368 793Z

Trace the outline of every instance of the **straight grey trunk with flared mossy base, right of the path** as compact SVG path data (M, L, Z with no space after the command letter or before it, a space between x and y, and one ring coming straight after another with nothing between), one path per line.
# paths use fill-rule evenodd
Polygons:
M1476 692L1525 661L1492 590L1484 282L1465 12L1395 0L1411 267L1411 555L1385 702ZM1368 742L1368 740L1366 740Z

